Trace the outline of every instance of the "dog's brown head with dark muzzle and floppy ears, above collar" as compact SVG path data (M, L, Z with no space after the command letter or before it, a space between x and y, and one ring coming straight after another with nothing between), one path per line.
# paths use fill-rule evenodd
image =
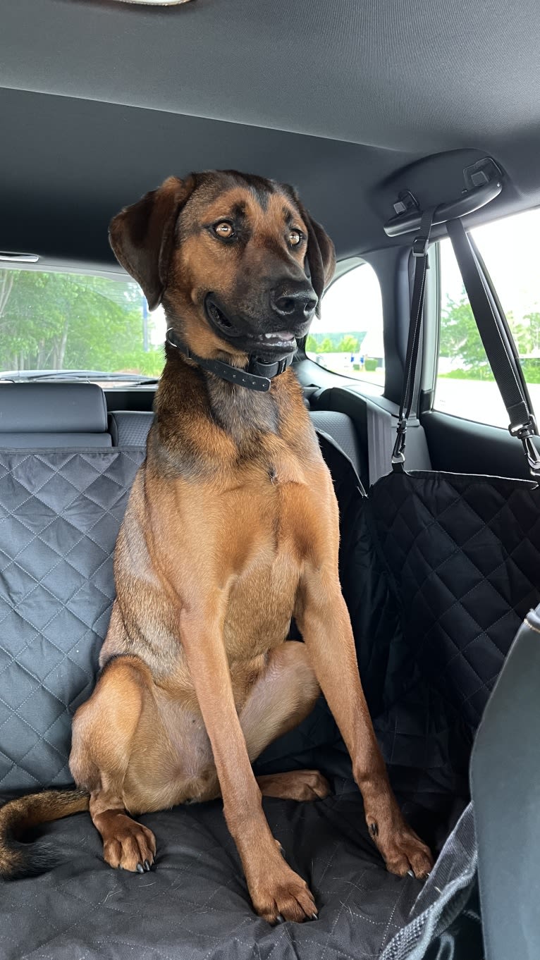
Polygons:
M307 333L335 267L285 184L233 171L170 177L119 213L110 245L150 309L201 356L278 359Z

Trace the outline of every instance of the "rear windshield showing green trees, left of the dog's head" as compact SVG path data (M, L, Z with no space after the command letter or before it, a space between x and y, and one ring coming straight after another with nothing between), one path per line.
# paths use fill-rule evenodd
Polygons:
M113 276L0 270L0 375L93 370L158 376L165 321Z

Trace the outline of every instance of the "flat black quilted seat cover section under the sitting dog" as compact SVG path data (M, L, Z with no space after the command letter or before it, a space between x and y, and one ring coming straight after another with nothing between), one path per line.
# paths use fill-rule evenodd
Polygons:
M219 803L142 817L158 838L155 873L111 870L86 814L47 829L65 853L52 874L0 888L2 960L375 960L422 884L384 870L358 794L316 804L265 800L288 862L320 908L271 927L251 909Z

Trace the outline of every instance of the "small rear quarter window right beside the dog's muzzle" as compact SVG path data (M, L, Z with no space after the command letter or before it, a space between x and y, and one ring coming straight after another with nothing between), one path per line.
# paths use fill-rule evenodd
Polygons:
M361 263L339 276L311 324L307 356L334 373L365 380L382 392L382 299L373 267Z

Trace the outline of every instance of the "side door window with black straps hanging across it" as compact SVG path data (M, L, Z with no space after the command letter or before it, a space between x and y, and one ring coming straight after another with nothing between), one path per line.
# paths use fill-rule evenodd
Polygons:
M471 231L497 290L528 383L540 410L540 211ZM440 250L440 343L434 408L466 420L508 425L450 240Z

